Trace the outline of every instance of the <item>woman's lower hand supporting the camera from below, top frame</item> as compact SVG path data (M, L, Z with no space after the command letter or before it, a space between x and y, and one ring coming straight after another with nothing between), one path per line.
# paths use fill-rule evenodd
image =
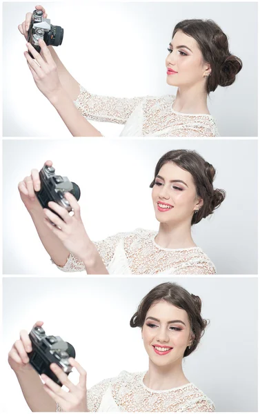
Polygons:
M42 39L39 39L42 56L30 43L26 43L26 46L34 57L32 59L28 52L24 52L34 82L43 95L52 102L58 95L62 95L63 92L65 93L59 81L57 64L54 62L50 50L48 50L45 41Z

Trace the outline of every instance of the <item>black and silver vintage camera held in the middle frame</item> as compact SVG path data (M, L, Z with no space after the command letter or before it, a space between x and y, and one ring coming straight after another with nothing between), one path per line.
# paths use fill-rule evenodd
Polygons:
M70 181L68 177L55 175L55 168L53 167L43 166L39 172L39 176L41 180L41 190L37 191L36 195L41 206L52 210L48 207L48 202L55 201L60 206L66 208L68 212L72 211L70 203L64 197L64 193L71 193L77 200L79 200L81 194L79 186Z

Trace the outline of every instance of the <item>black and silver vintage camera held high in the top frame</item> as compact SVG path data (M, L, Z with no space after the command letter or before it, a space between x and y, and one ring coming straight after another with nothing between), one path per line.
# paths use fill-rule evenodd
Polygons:
M53 26L50 19L43 19L42 10L34 10L28 30L28 42L32 44L37 52L41 52L39 39L45 41L47 46L59 46L63 41L64 30L61 26ZM29 52L33 58L32 54Z

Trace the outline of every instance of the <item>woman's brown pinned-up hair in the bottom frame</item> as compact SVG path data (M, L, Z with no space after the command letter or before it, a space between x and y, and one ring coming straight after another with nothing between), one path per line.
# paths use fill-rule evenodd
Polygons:
M202 319L201 317L201 299L199 296L190 295L188 290L182 288L178 284L166 282L159 284L150 290L150 292L141 300L137 312L131 317L130 326L132 328L136 328L137 326L143 328L150 307L161 300L177 306L177 308L183 309L188 314L193 340L190 348L187 346L183 354L183 357L187 357L197 348L209 321Z

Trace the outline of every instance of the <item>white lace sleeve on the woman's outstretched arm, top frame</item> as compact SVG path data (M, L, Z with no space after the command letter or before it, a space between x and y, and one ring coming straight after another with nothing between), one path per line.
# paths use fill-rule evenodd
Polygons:
M126 124L134 109L145 97L116 98L94 95L80 85L80 92L74 105L83 117L92 121Z

